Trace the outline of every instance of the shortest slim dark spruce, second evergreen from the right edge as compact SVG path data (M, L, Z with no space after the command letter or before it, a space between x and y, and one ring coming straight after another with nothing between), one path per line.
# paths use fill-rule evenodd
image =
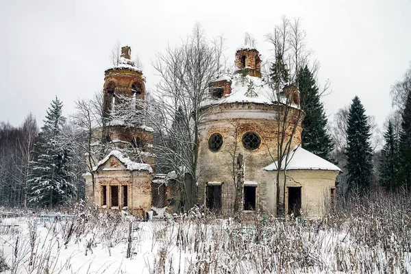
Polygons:
M388 129L384 134L385 145L382 148L380 183L387 190L397 186L396 179L399 166L398 138L395 136L393 123L388 121Z

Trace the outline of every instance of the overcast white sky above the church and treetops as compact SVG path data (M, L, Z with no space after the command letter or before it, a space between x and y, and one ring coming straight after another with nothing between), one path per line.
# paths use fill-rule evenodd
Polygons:
M197 21L208 38L225 37L225 54L233 60L245 32L267 56L264 35L282 15L301 17L308 48L321 62L319 80L331 81L332 94L323 97L327 114L358 95L380 126L391 110L390 86L411 61L409 0L0 3L0 121L16 126L29 112L42 125L55 95L67 115L75 99L101 90L117 40L140 55L147 88L153 88L155 53L176 45Z

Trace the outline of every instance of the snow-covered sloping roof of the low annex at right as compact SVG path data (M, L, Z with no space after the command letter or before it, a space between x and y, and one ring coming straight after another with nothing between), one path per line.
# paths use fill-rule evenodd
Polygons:
M282 161L281 170L284 170L284 166L286 165L284 161ZM268 166L264 167L265 171L277 171L278 162L275 161ZM303 149L302 147L295 147L292 149L290 153L288 153L288 164L286 166L286 170L319 170L319 171L338 171L341 172L341 169L324 160L323 158Z

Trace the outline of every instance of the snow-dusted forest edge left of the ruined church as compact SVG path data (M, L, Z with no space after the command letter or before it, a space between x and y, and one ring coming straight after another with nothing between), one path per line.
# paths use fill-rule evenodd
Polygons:
M56 97L38 129L29 114L21 127L0 123L0 202L2 206L62 206L84 199L84 150L62 116Z

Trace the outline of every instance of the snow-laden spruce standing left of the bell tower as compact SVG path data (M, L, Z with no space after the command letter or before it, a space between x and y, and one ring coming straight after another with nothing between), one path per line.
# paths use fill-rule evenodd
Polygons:
M71 198L75 186L71 183L71 149L62 136L66 119L62 102L55 97L47 110L40 140L35 145L36 160L32 162L29 180L29 202L34 206L57 206Z

